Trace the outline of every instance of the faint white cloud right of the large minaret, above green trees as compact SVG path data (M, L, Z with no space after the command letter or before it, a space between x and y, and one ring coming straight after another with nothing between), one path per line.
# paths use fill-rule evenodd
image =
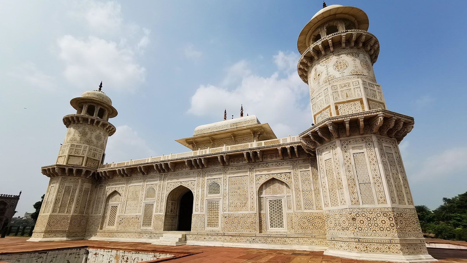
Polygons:
M465 173L467 169L467 147L456 147L425 158L415 166L414 179L439 180L451 174Z

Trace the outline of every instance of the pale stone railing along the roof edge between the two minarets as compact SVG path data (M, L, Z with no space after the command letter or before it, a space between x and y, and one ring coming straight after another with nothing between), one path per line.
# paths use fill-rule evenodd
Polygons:
M299 142L299 141L300 139L298 138L298 136L288 136L288 137L279 138L279 139L254 141L254 142L229 145L229 146L224 145L222 147L207 148L203 150L199 149L198 151L190 151L190 152L184 152L184 153L170 153L167 155L163 154L161 156L155 156L155 157L149 156L149 158L143 158L143 159L138 159L138 160L106 163L106 164L101 164L99 168L119 167L119 166L147 163L147 162L153 162L153 161L165 161L165 160L179 159L179 158L185 158L185 157L190 158L193 156L204 155L204 154L209 154L209 153L222 153L222 152L229 152L229 151L234 151L234 150L249 149L249 148L255 148L255 147L260 147L260 146L272 146L276 144Z

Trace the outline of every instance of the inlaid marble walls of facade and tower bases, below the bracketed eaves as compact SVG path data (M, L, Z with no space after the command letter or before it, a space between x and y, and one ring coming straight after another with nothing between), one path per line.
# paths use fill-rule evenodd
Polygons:
M177 229L174 197L189 190L187 241L376 251L384 239L388 253L423 253L396 140L350 136L319 146L316 158L298 153L99 182L51 178L33 238L154 240ZM349 246L357 237L364 240Z

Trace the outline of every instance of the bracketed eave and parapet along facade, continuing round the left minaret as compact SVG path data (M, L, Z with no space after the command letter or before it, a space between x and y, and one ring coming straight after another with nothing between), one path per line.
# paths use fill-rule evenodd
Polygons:
M135 173L146 175L151 173L174 172L176 165L185 165L187 169L207 168L208 161L218 160L221 165L229 165L232 155L243 154L247 162L263 161L263 151L277 151L280 158L298 157L301 143L298 136L288 136L280 139L208 148L185 153L170 153L139 160L122 161L101 165L99 169L70 165L50 165L42 167L42 174L49 177L77 176L90 179L110 179L128 177Z

